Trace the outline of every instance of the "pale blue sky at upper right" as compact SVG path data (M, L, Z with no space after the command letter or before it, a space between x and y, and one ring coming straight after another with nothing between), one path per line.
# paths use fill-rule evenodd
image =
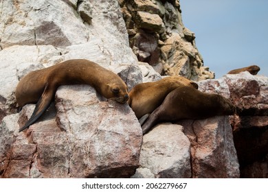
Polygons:
M256 64L268 76L268 0L180 0L204 66L216 78Z

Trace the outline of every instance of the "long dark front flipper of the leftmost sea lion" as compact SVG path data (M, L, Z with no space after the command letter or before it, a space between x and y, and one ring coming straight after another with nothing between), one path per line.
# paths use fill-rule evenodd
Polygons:
M45 85L44 92L40 99L38 100L34 112L32 113L32 116L30 119L25 123L25 125L19 129L19 132L25 130L30 125L32 125L41 115L47 110L49 105L51 104L52 98L54 96L54 91L52 88L49 88L48 84Z

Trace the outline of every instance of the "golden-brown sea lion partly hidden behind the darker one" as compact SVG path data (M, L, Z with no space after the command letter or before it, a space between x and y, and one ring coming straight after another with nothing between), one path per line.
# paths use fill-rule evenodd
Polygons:
M179 76L170 76L156 82L137 84L129 92L129 106L135 112L137 119L140 119L143 115L153 112L161 105L170 91L180 86L198 88L195 82Z

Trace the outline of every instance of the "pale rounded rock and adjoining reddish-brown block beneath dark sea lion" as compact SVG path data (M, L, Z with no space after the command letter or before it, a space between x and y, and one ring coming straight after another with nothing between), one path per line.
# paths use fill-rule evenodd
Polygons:
M224 116L156 125L144 135L139 162L134 178L240 176L232 128Z

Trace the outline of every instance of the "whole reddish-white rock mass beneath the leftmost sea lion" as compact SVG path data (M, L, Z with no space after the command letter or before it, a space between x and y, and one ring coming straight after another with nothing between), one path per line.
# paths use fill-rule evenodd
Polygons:
M56 108L52 104L26 132L19 133L16 122L25 123L34 105L5 117L0 129L1 178L133 175L139 166L142 130L129 106L106 100L87 85L62 86Z

